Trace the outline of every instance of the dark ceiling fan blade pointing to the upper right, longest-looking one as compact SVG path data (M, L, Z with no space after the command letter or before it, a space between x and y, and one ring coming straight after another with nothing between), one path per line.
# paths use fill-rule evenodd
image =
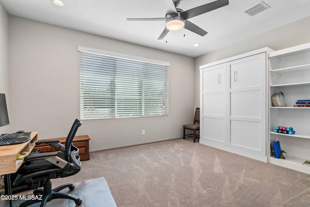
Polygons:
M183 16L184 19L189 19L194 16L202 15L206 12L210 12L212 10L218 9L220 7L226 6L229 4L229 0L216 0L211 3L207 3L184 12L181 12L180 15Z

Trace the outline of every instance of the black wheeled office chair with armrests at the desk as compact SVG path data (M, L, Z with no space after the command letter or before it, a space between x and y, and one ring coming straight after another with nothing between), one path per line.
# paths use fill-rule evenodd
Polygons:
M41 202L40 207L45 207L47 202L56 198L66 198L73 200L77 206L81 205L82 200L78 196L59 192L64 188L74 189L73 184L65 184L52 190L52 182L50 179L67 177L77 174L81 169L81 162L78 156L78 147L72 144L73 138L82 122L78 119L73 123L71 130L67 136L66 143L60 143L60 140L42 140L36 144L47 143L54 146L61 152L47 152L31 154L24 160L23 165L18 170L18 175L13 183L18 185L20 182L26 181L32 183L31 189L37 189L40 182L44 182L43 189L33 191L35 197L41 197L42 200L27 200L18 207L26 207L34 203Z

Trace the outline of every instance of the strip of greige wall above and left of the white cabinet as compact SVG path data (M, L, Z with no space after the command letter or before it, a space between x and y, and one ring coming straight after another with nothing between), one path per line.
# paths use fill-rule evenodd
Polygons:
M279 50L310 42L310 17L195 58L195 106L199 106L199 66L259 48ZM237 35L237 34L236 34Z

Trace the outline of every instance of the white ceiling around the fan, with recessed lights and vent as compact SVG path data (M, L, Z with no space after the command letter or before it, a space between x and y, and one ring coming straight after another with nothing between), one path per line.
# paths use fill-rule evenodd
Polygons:
M171 31L167 38L157 40L165 28L165 21L128 22L126 18L165 17L163 0L64 0L62 7L51 0L0 1L10 15L190 57L310 16L310 0L263 0L271 8L252 17L244 12L261 0L229 0L227 6L188 19L207 31L205 36L181 30ZM178 8L186 11L212 1L181 0ZM195 43L201 46L193 47Z

